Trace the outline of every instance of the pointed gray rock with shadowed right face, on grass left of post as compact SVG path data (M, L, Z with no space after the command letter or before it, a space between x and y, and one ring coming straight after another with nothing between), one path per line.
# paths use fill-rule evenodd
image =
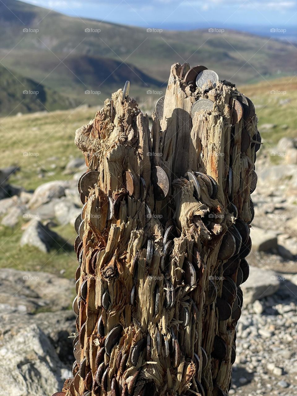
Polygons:
M32 219L27 224L27 227L21 237L20 245L34 246L44 253L61 246L63 246L63 249L69 248L69 244L67 244L61 236L56 232L51 231L37 219Z

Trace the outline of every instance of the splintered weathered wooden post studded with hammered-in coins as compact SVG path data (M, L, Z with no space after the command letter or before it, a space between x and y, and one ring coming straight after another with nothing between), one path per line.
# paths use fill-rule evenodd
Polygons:
M118 90L76 131L89 170L78 184L84 208L67 396L230 389L257 117L233 84L199 88L181 74L180 64L171 67L163 117L152 114L151 130ZM193 111L198 99L211 109Z

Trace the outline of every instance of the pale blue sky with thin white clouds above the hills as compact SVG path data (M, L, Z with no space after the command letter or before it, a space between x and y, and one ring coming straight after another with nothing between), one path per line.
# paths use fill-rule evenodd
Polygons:
M26 0L26 2L68 15L163 29L232 26L238 29L240 26L248 25L286 29L296 26L297 19L297 0Z

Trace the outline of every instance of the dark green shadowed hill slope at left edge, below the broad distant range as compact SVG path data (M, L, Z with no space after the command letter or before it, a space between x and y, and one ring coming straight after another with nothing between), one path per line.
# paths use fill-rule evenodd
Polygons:
M0 65L0 115L69 109L79 104L78 99L69 99Z

